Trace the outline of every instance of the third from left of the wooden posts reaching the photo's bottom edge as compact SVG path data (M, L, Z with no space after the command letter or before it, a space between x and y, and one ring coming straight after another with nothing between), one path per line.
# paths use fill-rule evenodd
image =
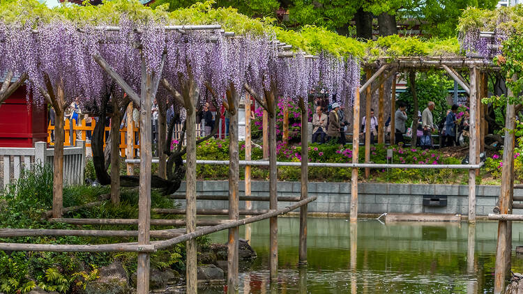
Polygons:
M229 102L229 219L238 220L240 181L240 157L238 155L238 95L234 85L227 91ZM227 293L238 293L238 232L236 226L229 229L227 242Z

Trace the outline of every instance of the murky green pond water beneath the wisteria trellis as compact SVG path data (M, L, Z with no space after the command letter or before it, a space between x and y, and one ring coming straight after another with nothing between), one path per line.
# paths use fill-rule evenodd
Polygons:
M298 266L299 219L278 219L278 284L268 282L268 220L252 224L257 258L241 269L239 293L492 293L497 222L395 223L308 219L308 265ZM240 229L241 237L245 228ZM211 235L226 242L227 231ZM513 224L513 247L523 224ZM469 257L467 257L469 256ZM512 258L523 272L523 258ZM224 284L199 293L224 293Z

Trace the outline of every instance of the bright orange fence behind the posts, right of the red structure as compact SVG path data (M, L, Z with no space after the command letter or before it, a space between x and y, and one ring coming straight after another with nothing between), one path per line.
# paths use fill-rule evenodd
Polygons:
M91 131L91 136L93 134L94 127L96 125L96 121L93 119L91 125L86 125L86 122L84 119L82 119L81 125L77 125L76 121L73 119L73 123L71 124L68 119L66 119L66 125L63 127L65 130L65 139L63 142L63 146L71 146L71 135L73 136L73 142L78 140L84 140L86 141L87 138L87 131ZM73 126L73 132L71 132L71 126ZM54 142L51 141L51 131L54 130L54 125L49 125L47 127L47 143L49 143L51 146L54 145ZM106 136L109 134L109 130L111 130L111 127L105 127L105 132L103 132L103 146L105 147L105 141L107 140ZM134 127L134 142L133 148L135 149L133 151L133 154L137 154L139 150L139 145L137 145L136 138L139 138L139 128ZM127 148L127 142L126 142L126 133L127 133L127 127L122 127L120 129L120 152L122 157L126 157L126 148ZM86 141L86 147L91 147L91 141Z

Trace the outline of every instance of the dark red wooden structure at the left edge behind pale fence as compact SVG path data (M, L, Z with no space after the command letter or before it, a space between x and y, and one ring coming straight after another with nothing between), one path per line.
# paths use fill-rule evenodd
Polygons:
M10 95L0 107L0 147L34 147L47 141L47 106L26 99L26 86Z

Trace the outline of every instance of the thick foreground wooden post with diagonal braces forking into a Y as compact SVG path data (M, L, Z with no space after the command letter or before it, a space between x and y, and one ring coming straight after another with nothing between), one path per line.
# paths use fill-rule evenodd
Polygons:
M152 77L145 66L142 56L142 95L140 99L140 174L138 200L138 244L148 245L151 227L151 163L153 151L151 145L151 105ZM149 268L151 256L147 253L138 254L137 294L149 293Z

